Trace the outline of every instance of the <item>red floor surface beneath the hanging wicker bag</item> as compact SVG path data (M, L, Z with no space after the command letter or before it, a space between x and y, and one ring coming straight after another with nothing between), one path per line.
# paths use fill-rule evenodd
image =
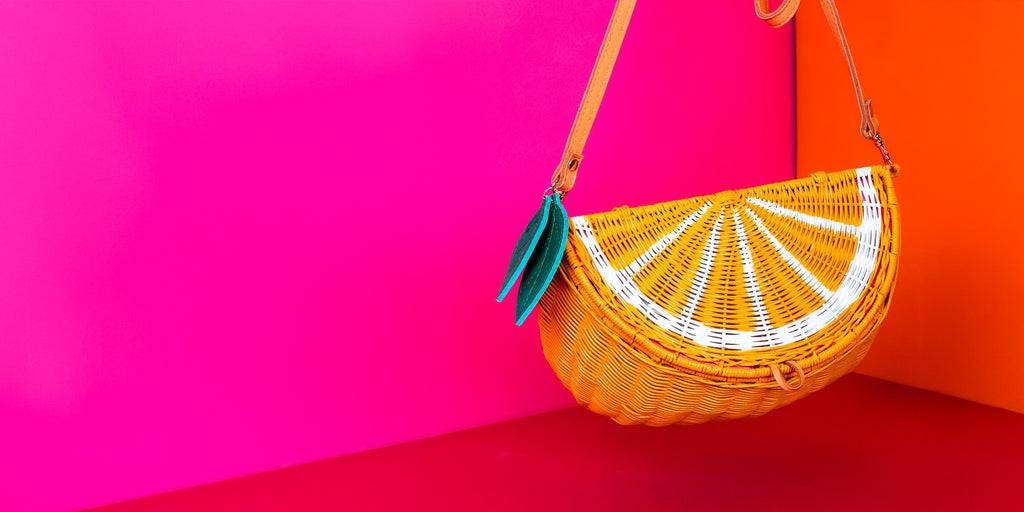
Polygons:
M95 510L1024 510L1024 416L852 375L766 417L581 408Z

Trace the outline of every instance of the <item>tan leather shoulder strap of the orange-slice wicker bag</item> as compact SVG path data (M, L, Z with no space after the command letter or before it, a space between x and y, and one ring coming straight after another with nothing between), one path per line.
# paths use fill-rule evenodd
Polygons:
M623 46L623 38L626 37L626 29L629 27L634 6L636 6L636 0L617 0L615 2L611 20L608 23L608 30L604 33L604 41L601 42L601 49L597 54L597 61L590 74L587 91L583 95L583 101L580 102L580 110L572 123L572 130L565 142L562 160L555 169L554 175L551 176L551 186L562 195L568 194L572 189L572 185L575 184L577 172L580 170L580 162L583 160L583 147L587 143L587 136L590 135L590 129L594 125L597 110L601 106L601 98L604 97L604 90L608 86L608 79L611 77L615 57L618 56L618 49ZM758 16L771 27L785 25L797 13L799 6L800 0L783 0L778 8L769 12L768 0L754 0L754 8ZM871 100L864 99L864 93L861 91L857 69L853 66L853 55L850 53L850 45L846 41L843 26L839 20L836 2L821 0L821 7L825 11L828 26L846 54L846 62L850 67L850 76L853 78L853 87L857 93L857 105L860 109L860 134L865 138L873 139L876 144L881 144L878 120L874 119L871 112Z

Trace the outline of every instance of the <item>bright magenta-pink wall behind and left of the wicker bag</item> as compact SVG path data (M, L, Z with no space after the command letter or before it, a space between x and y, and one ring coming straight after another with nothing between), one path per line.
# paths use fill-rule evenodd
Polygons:
M569 406L494 297L611 4L0 4L0 510ZM792 176L787 30L632 29L571 213Z

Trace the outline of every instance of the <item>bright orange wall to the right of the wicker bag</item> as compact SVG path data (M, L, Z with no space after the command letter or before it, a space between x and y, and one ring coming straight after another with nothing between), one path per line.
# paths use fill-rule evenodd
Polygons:
M799 175L873 164L817 2L797 18ZM844 28L896 180L893 306L858 372L1024 413L1024 2L860 0Z

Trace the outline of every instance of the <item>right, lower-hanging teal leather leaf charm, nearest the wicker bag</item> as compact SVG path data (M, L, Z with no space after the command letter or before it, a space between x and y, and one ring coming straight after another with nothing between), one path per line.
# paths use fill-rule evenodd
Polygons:
M551 280L555 278L558 264L565 254L565 242L569 236L569 216L565 212L565 207L558 195L550 196L551 213L548 215L548 223L544 228L544 233L534 250L532 256L526 262L526 268L522 272L522 282L519 283L519 295L515 301L515 325L521 326L529 316L529 312L537 307L544 292L551 285Z

